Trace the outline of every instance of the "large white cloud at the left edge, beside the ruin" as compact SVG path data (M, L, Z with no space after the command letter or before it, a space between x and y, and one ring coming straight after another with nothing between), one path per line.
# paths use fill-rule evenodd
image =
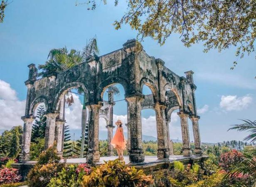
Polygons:
M24 116L25 105L26 101L20 101L17 98L17 93L10 84L0 80L0 130L23 125L20 117Z

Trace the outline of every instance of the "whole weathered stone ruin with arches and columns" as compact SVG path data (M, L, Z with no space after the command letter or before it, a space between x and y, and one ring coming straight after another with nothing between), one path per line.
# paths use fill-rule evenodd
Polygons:
M89 110L89 135L87 162L98 162L99 118L106 119L108 128L108 154L113 155L110 141L113 137L113 93L108 93L108 101L103 101L103 93L112 84L121 84L127 102L128 151L132 163L144 161L142 148L141 110L152 108L156 114L158 159L169 159L173 155L170 142L169 122L172 111L179 109L181 121L182 153L192 155L188 117L192 121L194 134L194 153L201 155L201 141L195 100L196 86L193 71L178 76L164 66L165 62L155 59L137 48L135 39L128 40L123 48L101 57L91 57L87 62L76 65L58 74L49 74L37 79L37 68L30 64L27 86L27 103L22 138L20 160L29 160L30 139L34 113L39 103L45 103L47 127L45 148L57 142L57 153L62 156L64 142L64 95L67 90L81 87ZM152 91L143 95L143 85ZM112 94L112 96L111 96Z

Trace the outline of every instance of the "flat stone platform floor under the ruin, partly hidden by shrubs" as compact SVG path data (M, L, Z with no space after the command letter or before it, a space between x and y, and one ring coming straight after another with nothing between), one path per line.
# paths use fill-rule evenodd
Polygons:
M99 162L96 162L96 165L104 164L104 161L109 160L115 160L117 159L117 156L112 157L101 157ZM194 162L203 162L207 156L182 156L182 155L173 155L170 156L169 159L165 160L158 160L157 156L145 156L145 161L141 163L130 163L129 157L124 156L124 161L127 165L132 165L138 169L144 170L146 174L150 174L154 171L160 170L160 169L166 169L169 167L173 167L174 161L180 161L184 164L192 164ZM64 162L62 159L61 162ZM20 174L22 175L22 179L24 180L29 170L34 167L36 164L36 161L27 161L23 163L14 163L12 164L12 167L19 169ZM71 158L66 159L66 165L69 164L81 164L86 163L86 158Z

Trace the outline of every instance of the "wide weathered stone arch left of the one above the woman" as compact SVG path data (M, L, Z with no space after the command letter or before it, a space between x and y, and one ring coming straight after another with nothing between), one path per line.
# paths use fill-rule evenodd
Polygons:
M91 101L91 98L90 98L87 86L82 82L76 81L76 82L67 83L67 84L65 84L65 86L63 86L61 89L59 89L57 95L55 96L52 108L57 111L59 108L59 102L60 102L61 98L64 96L64 94L66 93L66 91L68 89L77 88L77 87L81 87L82 89L84 89L84 94L87 99L86 103L89 103Z

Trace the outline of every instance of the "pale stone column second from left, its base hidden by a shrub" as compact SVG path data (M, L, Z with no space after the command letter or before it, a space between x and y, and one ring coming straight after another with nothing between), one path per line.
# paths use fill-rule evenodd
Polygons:
M44 148L47 149L54 144L55 139L55 122L59 113L46 114L46 128L45 128L45 144Z

